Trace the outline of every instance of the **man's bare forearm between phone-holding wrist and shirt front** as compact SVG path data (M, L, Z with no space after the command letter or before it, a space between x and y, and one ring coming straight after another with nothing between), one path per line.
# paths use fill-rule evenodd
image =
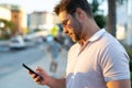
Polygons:
M50 88L66 88L66 78L51 78L47 86L50 86Z

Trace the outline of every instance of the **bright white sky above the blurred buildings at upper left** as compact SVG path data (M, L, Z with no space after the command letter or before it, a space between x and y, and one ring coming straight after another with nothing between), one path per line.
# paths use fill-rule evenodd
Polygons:
M58 1L59 0L0 0L0 3L18 4L21 6L26 13L32 13L33 11L52 12Z

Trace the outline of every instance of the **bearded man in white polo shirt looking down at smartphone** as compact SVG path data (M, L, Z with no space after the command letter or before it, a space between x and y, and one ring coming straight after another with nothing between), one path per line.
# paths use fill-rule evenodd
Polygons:
M42 68L44 78L33 79L51 88L131 88L129 56L123 46L94 20L87 0L61 0L55 12L64 32L76 44L68 52L66 77L55 79Z

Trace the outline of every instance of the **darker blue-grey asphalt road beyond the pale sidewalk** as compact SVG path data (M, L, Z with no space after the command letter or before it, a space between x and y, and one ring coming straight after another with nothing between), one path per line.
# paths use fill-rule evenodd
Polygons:
M22 63L29 64L41 59L45 53L37 47L0 52L0 77L19 69Z

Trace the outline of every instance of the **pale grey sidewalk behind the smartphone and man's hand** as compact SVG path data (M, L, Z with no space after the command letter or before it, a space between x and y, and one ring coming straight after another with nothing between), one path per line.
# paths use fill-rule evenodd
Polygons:
M65 76L65 68L66 68L66 57L67 52L63 50L61 52L59 63L58 63L58 70L55 74L55 77L59 78ZM29 65L31 68L35 68L37 66L43 67L48 74L50 70L50 56L48 54L44 56L38 62ZM21 67L18 72L12 73L3 78L0 78L0 88L48 88L46 86L40 86L33 81L33 79L29 76L28 70Z

